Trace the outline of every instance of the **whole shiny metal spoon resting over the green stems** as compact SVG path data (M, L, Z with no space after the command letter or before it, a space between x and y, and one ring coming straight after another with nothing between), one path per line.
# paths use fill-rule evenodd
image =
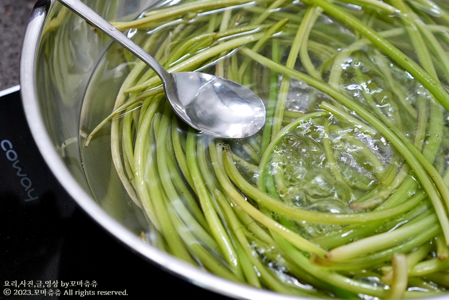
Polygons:
M195 129L224 139L254 135L265 123L265 106L250 89L199 72L169 73L151 55L80 0L59 0L71 11L148 64L161 78L176 114Z

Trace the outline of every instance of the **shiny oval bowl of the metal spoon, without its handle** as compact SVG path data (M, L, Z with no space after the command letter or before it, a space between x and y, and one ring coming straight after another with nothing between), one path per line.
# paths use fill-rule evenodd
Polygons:
M165 95L176 114L207 135L236 139L254 135L265 122L265 107L250 89L206 73L171 73Z

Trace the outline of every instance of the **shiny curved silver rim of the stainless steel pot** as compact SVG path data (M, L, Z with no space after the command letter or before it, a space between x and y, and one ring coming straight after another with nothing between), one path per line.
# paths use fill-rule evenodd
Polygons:
M39 51L45 19L56 0L38 0L35 4L25 31L20 60L20 92L25 117L34 142L49 166L53 175L74 199L74 201L110 235L127 245L145 259L156 263L165 271L177 275L202 288L239 299L251 300L301 300L300 296L289 296L269 290L256 289L243 284L228 281L203 271L151 245L145 244L118 221L103 211L72 177L61 157L55 150L41 115L36 86L36 58ZM443 300L447 294L426 299Z

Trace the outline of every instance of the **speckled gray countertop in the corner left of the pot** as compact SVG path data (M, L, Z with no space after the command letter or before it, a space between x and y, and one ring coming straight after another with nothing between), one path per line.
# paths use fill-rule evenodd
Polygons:
M0 90L19 84L23 34L36 0L0 0Z

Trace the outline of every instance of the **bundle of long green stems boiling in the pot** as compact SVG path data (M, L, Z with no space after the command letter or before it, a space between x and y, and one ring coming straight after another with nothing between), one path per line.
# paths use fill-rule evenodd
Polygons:
M242 140L188 128L130 62L111 155L143 235L223 278L305 297L449 287L449 10L432 0L192 0L121 29L169 72L264 99Z

